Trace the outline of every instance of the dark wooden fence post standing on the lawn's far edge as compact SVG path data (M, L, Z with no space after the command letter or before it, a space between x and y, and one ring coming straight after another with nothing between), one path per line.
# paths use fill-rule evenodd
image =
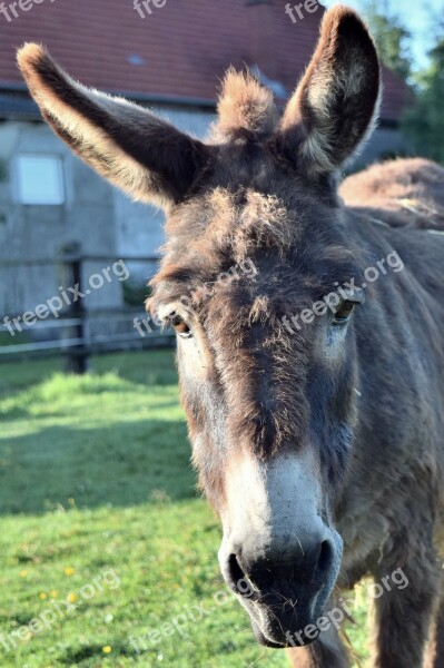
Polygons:
M82 267L82 257L80 255L69 256L67 262L68 266L68 276L69 276L69 285L68 287L78 287L77 293L82 293L82 278L81 278L81 267ZM68 373L78 373L82 374L88 371L88 348L85 344L86 342L86 310L81 302L81 298L78 298L76 302L72 302L68 308L68 317L72 317L79 321L75 327L72 327L72 332L76 338L80 338L82 343L78 345L72 345L68 347L67 357L66 357L66 371Z

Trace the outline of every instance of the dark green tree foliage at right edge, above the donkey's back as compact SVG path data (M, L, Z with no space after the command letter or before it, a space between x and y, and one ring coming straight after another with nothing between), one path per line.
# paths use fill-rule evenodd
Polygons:
M415 77L416 101L403 129L422 156L444 164L444 39L430 52L430 66Z

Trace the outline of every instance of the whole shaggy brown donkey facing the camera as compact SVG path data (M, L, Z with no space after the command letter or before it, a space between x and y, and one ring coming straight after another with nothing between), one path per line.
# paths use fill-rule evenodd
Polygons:
M338 597L367 576L384 592L373 665L442 668L444 169L397 160L339 186L379 101L363 21L325 14L283 115L230 70L206 143L40 46L18 60L55 131L167 213L148 308L177 332L221 572L258 642L299 668L351 666ZM243 262L255 272L230 272Z

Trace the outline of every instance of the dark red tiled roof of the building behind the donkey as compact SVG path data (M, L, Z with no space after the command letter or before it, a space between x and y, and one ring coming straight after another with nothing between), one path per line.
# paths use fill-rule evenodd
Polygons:
M318 6L293 23L286 0L148 0L151 14L142 1L144 18L135 0L41 0L17 9L18 18L9 10L10 22L0 14L0 89L22 88L14 51L38 41L81 82L136 99L214 104L230 65L255 67L283 98L309 61L325 11ZM382 116L396 120L406 87L392 72L384 79ZM17 92L13 100L21 110Z

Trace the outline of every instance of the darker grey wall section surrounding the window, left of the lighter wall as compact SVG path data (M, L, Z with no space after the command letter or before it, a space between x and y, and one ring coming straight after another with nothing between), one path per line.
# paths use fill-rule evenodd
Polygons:
M63 205L20 204L17 158L22 153L62 158ZM59 294L59 285L68 287L67 276L60 267L8 267L4 263L58 258L63 249L76 246L88 255L114 255L115 205L109 186L42 122L1 124L0 160L7 165L7 177L0 183L0 314L19 314ZM111 283L91 295L90 306L120 302L120 292Z

